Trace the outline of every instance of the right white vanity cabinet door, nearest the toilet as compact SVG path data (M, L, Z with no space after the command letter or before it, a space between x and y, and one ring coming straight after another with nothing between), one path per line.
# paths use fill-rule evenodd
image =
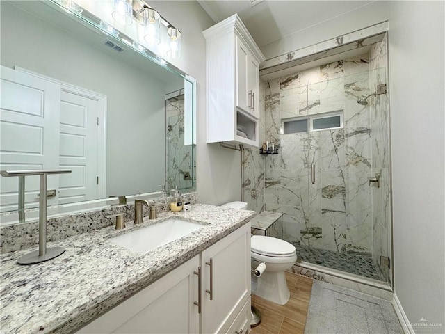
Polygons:
M202 268L202 333L226 333L250 298L250 224L204 250Z

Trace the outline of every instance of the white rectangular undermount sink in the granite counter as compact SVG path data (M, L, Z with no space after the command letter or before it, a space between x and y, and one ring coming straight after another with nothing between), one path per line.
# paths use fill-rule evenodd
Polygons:
M139 228L118 237L108 239L112 244L122 246L134 253L145 254L154 248L161 247L171 241L185 237L191 232L204 228L200 223L169 218L161 223Z

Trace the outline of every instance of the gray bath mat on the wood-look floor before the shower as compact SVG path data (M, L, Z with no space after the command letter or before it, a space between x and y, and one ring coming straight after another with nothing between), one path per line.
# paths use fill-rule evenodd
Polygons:
M305 334L403 334L389 301L314 280Z

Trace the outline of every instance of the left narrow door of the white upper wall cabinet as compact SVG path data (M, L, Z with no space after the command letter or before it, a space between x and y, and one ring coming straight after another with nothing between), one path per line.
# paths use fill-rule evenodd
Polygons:
M248 98L248 48L241 39L235 36L236 41L236 108L250 112Z

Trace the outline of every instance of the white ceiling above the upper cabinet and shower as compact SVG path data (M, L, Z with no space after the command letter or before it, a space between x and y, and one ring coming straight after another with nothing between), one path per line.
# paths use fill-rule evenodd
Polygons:
M259 47L373 1L198 0L216 23L238 13Z

